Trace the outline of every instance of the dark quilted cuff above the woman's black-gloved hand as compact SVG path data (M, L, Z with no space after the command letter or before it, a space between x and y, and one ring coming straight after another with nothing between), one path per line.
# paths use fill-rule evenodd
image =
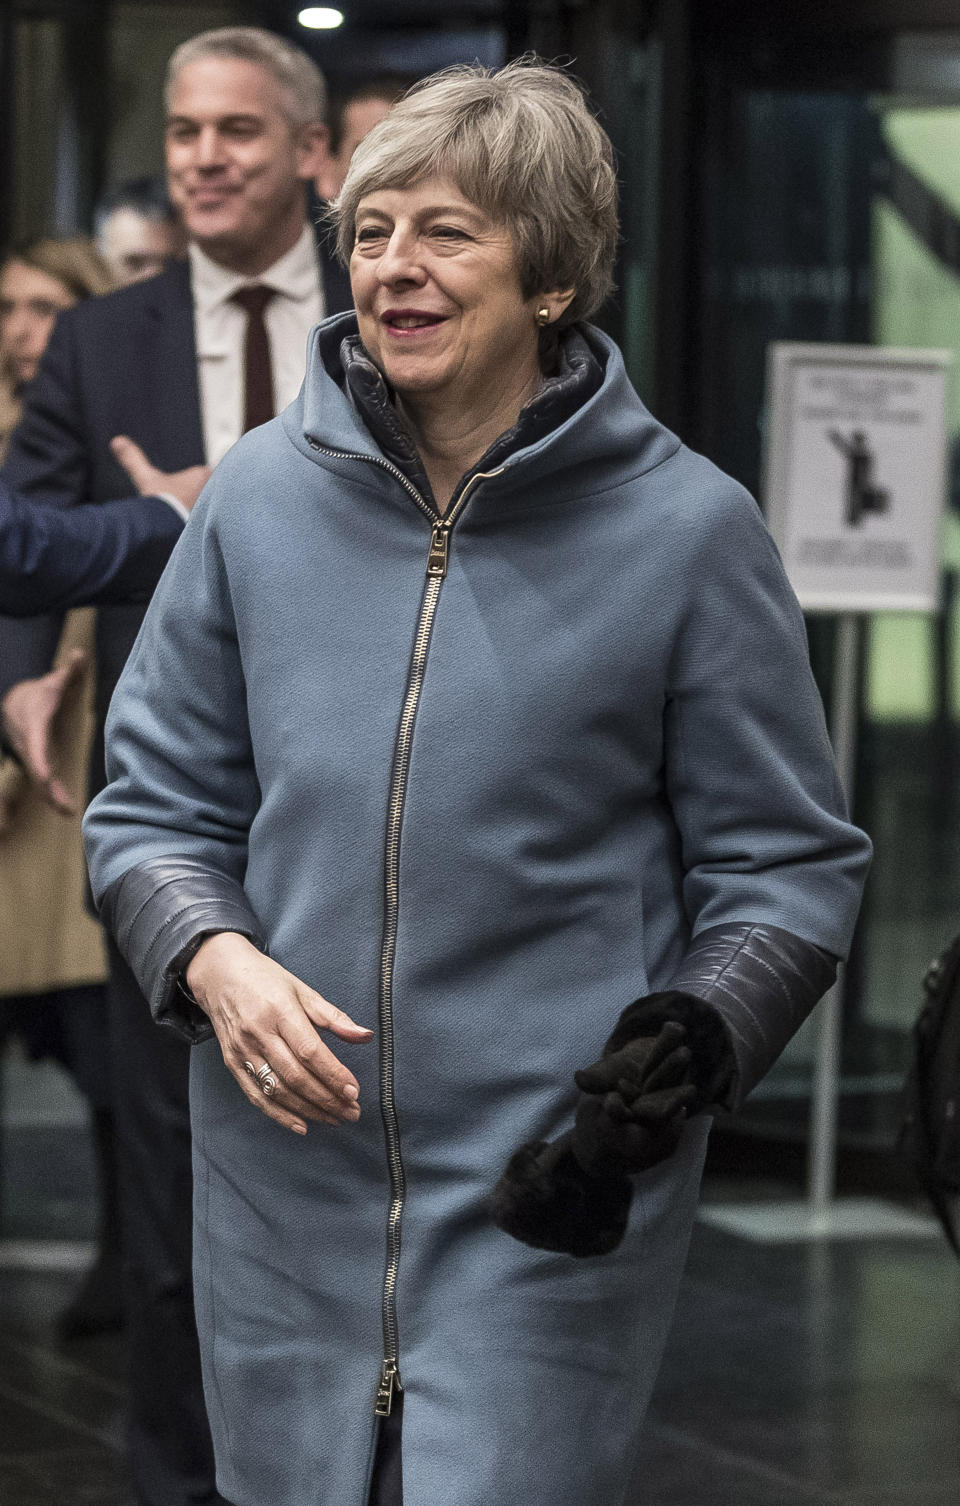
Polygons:
M699 998L723 1023L735 1075L722 1107L738 1108L769 1072L836 967L830 952L779 926L711 926L693 938L669 989Z

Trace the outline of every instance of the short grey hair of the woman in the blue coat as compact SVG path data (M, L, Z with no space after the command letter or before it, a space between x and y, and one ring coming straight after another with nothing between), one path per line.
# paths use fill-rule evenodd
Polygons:
M523 295L574 288L558 325L588 319L613 286L613 148L580 86L537 57L445 68L414 84L357 146L330 209L348 262L357 206L434 173L506 224Z

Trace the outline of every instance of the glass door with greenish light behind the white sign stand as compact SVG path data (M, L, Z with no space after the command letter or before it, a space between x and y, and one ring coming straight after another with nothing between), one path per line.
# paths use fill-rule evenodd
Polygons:
M960 35L847 48L830 87L791 80L790 39L705 65L698 161L693 443L755 494L772 340L948 348L960 367ZM836 72L836 71L835 71ZM960 381L943 602L862 630L855 813L876 843L848 968L841 1143L892 1146L909 1030L934 952L960 929ZM808 620L829 700L835 622ZM748 1104L806 1133L805 1029Z

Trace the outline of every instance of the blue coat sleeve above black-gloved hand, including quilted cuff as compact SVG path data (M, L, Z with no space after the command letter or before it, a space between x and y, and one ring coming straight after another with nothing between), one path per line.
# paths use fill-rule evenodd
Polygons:
M669 986L722 1014L748 1092L829 985L829 958L847 955L871 845L847 816L760 509L725 482L695 539L665 705L692 955Z

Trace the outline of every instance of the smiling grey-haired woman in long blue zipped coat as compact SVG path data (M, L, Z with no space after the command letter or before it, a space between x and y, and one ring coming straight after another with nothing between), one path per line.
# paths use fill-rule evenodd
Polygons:
M612 1506L708 1113L830 982L870 843L754 501L585 322L576 84L426 80L335 218L356 315L194 511L86 825L197 1042L219 1483Z

